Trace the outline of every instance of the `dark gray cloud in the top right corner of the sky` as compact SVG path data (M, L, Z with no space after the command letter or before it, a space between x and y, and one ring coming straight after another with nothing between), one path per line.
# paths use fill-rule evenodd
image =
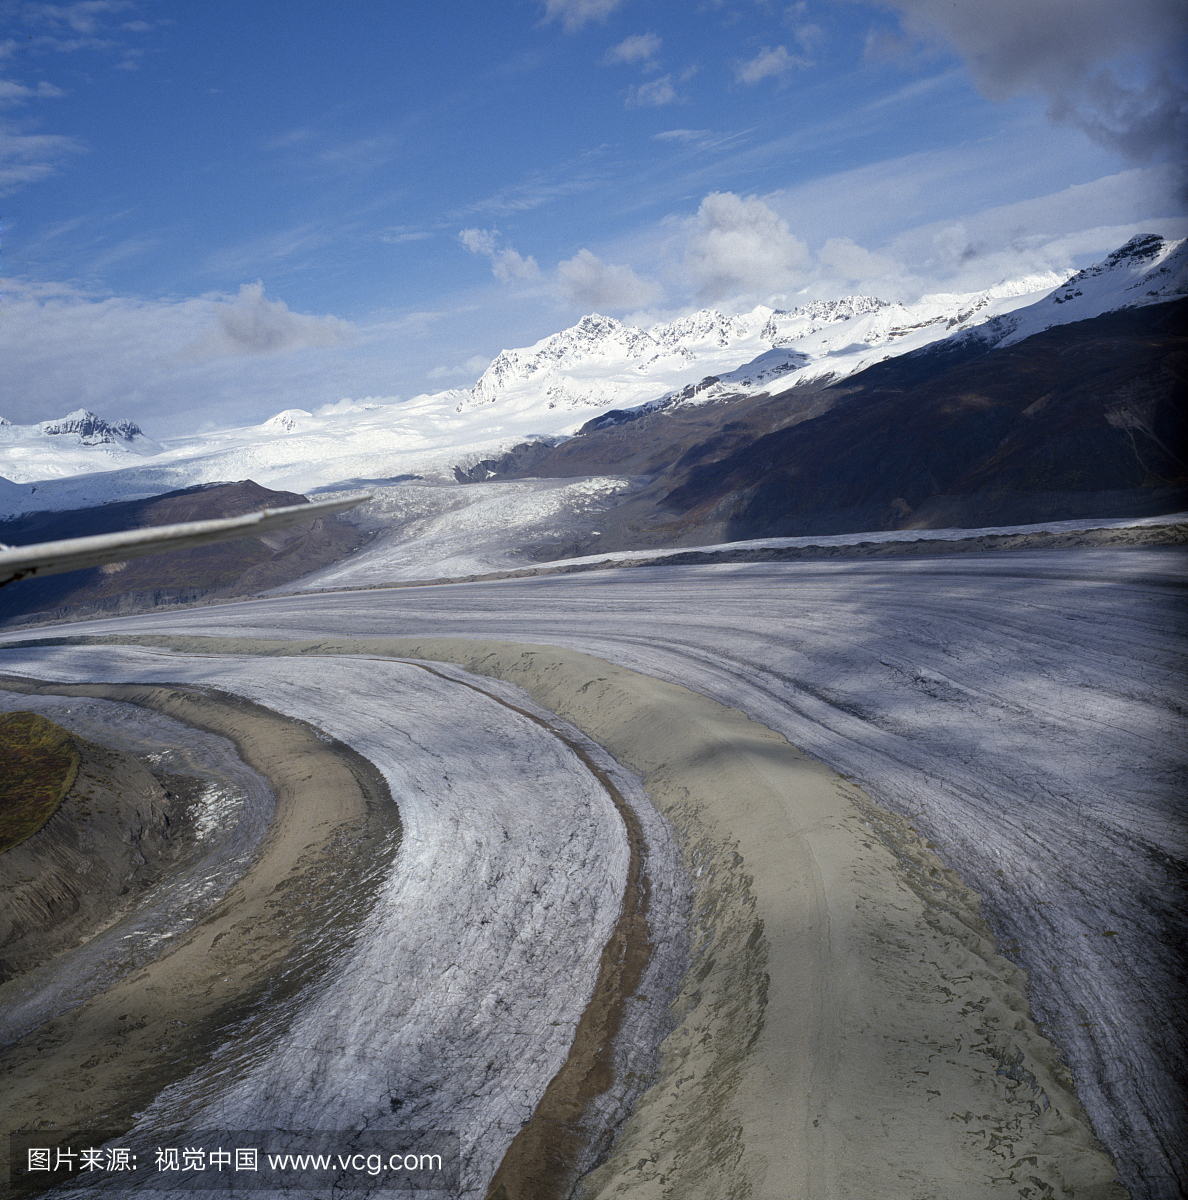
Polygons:
M952 44L994 100L1040 96L1056 120L1133 160L1188 144L1182 0L871 0Z

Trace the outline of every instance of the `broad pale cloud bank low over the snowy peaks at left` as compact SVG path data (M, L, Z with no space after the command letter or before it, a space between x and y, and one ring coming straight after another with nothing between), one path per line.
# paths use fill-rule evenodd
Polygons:
M140 300L11 280L0 413L30 424L83 407L134 420L151 437L247 425L282 408L391 392L404 349L415 341L398 330L290 312L254 286Z

